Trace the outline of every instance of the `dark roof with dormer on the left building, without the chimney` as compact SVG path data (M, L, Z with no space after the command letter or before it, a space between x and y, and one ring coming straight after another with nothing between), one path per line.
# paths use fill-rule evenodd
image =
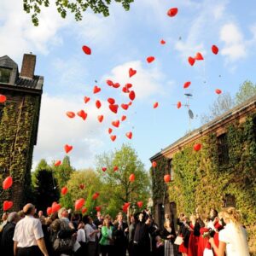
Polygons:
M4 55L0 57L0 67L12 69L11 79L9 84L1 82L1 87L11 90L26 90L34 93L42 93L44 77L34 75L33 79L26 79L20 77L18 65L9 56Z

